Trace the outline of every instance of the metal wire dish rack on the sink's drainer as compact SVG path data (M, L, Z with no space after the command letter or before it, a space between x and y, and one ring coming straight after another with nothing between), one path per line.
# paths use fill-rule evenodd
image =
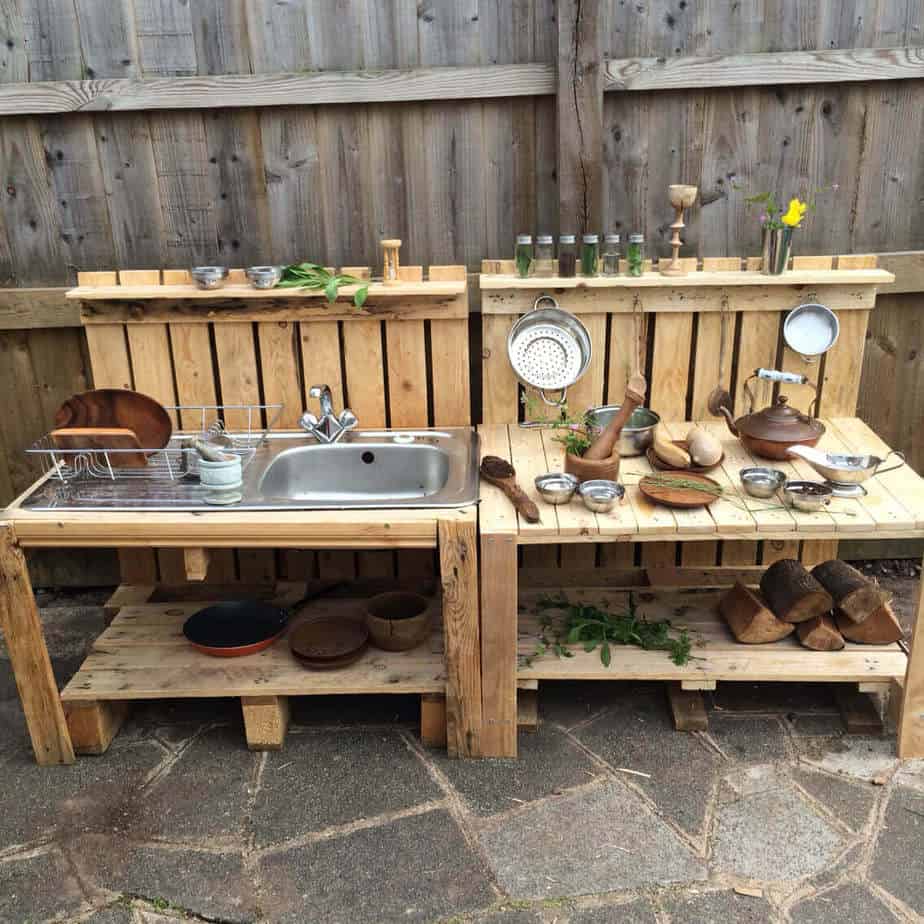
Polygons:
M33 443L26 454L41 461L46 475L62 482L178 481L198 474L199 454L188 446L191 437L219 442L222 452L240 456L243 469L276 425L282 409L281 404L164 405L174 420L188 423L198 417L198 428L174 433L166 446L141 449L59 449L48 433ZM240 424L228 428L229 418ZM147 456L146 465L136 468L121 464L125 454L137 457L139 453Z

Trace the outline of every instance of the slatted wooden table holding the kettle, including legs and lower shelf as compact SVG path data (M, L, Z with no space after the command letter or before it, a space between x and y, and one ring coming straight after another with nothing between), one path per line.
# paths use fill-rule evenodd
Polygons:
M518 644L528 647L529 643L524 638L530 635L528 617L524 617L525 622L519 629L517 626L518 545L924 536L924 479L908 466L868 480L864 498L835 498L826 510L819 513L780 509L777 503L744 494L740 489L739 471L752 465L773 465L785 469L793 478L817 481L820 476L800 460L768 463L752 458L731 436L724 423L708 420L700 424L722 440L725 453L722 464L710 475L726 488L728 500L719 500L707 508L696 510L672 510L652 504L638 489L640 478L652 471L645 457L639 456L622 460L619 480L626 486L626 497L608 514L588 511L578 497L570 504L554 507L544 504L538 496L533 485L535 475L563 468L564 450L554 439L554 431L524 429L515 425L483 426L479 429L483 452L512 462L521 486L536 501L542 514L540 523L518 520L516 512L497 488L482 485L479 524L484 627L482 743L485 754L516 754L518 678L615 680L644 676L671 680L678 679L683 673L663 652L627 649L614 656L609 668L602 668L597 653L592 657L575 656L562 660L547 654L518 674ZM826 420L825 425L826 433L820 443L822 449L873 453L880 457L889 452L882 440L856 418L834 418ZM691 424L666 422L663 426L674 438L682 438ZM917 606L920 615L920 594ZM719 639L729 636L718 624L718 617L715 617L714 623L714 626L701 627L705 631L708 655L696 667L685 669L709 683L757 677L889 682L904 674L899 753L903 757L924 756L924 629L919 634L918 623L915 624L915 635L920 641L913 645L907 659L897 645L848 645L844 652L827 656L799 650L792 644L760 647L736 643L719 645ZM713 641L711 646L710 638Z

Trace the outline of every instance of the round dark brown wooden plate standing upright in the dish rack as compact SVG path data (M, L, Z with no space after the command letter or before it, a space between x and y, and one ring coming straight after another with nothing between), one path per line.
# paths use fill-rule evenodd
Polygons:
M163 449L173 433L161 404L126 388L98 388L68 398L55 414L55 427L120 427L131 430L148 450Z

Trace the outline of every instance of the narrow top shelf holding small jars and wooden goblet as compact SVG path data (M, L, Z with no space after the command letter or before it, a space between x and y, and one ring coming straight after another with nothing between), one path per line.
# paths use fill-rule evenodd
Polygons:
M781 276L746 272L690 272L686 276L520 276L482 273L482 289L649 289L702 286L888 285L895 276L882 269L790 270Z

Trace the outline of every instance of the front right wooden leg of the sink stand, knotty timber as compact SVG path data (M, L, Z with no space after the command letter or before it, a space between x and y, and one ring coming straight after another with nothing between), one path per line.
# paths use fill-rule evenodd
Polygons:
M446 748L481 756L478 540L474 516L440 520L440 582L446 658Z

